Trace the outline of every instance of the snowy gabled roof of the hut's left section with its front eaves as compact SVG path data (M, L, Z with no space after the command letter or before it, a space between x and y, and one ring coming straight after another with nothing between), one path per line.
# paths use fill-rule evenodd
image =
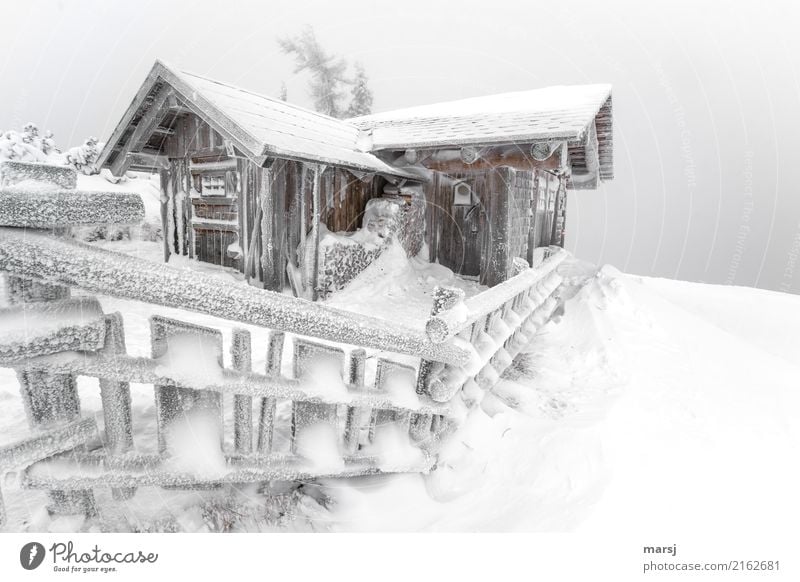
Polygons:
M156 61L128 111L101 154L108 162L124 140L126 128L143 115L148 96L166 83L177 96L256 161L284 157L332 164L366 172L405 176L359 147L359 130L345 121L253 93L200 75L178 71ZM127 133L130 133L129 131Z

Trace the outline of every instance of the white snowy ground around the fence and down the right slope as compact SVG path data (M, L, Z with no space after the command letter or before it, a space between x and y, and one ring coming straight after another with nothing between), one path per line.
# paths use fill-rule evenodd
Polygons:
M430 305L424 307L426 278L413 265L400 266L390 269L396 277L366 277L340 305L364 309L367 285L405 286L423 313ZM782 531L796 523L800 297L632 277L608 267L595 276L577 261L562 270L574 282L572 296L483 395L431 475L333 480L272 504L254 488L141 489L126 507L104 515L106 526L631 532L653 524L664 531ZM391 293L382 294L391 305ZM149 351L150 312L223 328L229 342L222 320L111 298L102 303L123 313L134 354ZM263 331L254 332L261 367ZM82 381L80 389L84 409L99 411L96 386ZM152 450L152 387L132 389L137 448ZM0 402L6 442L26 428L7 370L0 370ZM11 530L86 527L47 522L36 510L39 493L4 491Z

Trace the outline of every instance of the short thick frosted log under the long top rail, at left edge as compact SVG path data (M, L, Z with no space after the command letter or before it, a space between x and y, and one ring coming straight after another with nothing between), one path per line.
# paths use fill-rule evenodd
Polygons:
M0 309L0 361L103 347L105 322L97 299L79 297Z

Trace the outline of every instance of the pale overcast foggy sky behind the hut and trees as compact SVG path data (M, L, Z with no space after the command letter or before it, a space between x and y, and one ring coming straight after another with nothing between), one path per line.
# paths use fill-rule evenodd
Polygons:
M0 9L0 129L106 138L154 59L309 105L277 48L311 24L376 111L614 85L616 179L567 246L621 270L800 292L800 11L790 2L113 2Z

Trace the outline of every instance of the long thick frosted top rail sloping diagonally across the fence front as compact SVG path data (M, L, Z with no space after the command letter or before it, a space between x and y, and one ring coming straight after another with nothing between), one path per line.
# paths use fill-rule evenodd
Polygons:
M460 364L470 358L464 348L434 344L424 333L384 320L72 241L0 228L0 243L0 270L15 275L431 360Z

